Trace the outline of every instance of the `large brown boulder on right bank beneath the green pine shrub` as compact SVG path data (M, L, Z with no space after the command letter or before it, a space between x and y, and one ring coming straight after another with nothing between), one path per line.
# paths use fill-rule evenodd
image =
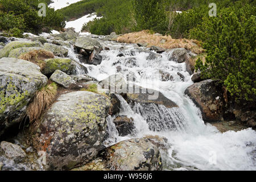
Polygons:
M224 113L224 92L216 81L204 80L185 90L192 101L200 108L205 122L220 121Z

